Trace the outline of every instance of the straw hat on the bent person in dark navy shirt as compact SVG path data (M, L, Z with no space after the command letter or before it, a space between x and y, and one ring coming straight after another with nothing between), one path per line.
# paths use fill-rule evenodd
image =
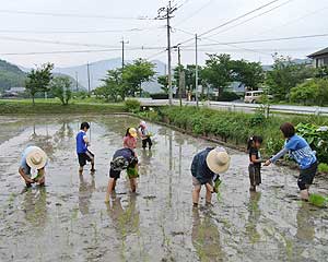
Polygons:
M230 156L223 147L218 146L208 154L207 164L215 174L225 172L230 166Z

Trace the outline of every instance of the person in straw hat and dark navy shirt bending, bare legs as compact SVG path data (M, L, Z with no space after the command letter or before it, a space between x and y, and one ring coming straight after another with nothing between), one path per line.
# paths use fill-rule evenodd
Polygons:
M215 192L215 184L220 182L220 175L225 172L230 166L230 156L223 147L208 147L198 153L191 164L192 175L192 202L194 206L198 206L201 186L206 186L207 204L211 203L212 193Z

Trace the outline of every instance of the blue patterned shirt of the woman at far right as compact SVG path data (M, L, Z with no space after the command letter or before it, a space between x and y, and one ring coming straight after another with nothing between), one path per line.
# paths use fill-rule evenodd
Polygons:
M284 148L273 156L271 162L274 163L285 153L290 153L301 169L309 168L317 162L316 153L309 147L306 140L297 134L285 141Z

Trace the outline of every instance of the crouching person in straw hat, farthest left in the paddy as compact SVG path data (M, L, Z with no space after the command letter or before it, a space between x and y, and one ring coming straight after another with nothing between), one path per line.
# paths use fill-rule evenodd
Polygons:
M45 167L48 162L47 154L38 146L28 146L22 154L21 166L19 172L24 179L25 184L30 188L33 183L45 186ZM33 176L33 169L36 170L36 176Z

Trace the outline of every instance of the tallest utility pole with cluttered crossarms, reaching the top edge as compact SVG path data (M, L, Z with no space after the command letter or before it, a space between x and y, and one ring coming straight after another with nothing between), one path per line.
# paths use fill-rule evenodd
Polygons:
M159 9L159 15L156 19L166 20L166 28L167 28L167 79L168 79L168 98L169 105L173 105L173 91L172 91L172 57L171 57L171 25L169 20L173 17L172 14L177 10L176 7L171 5L171 1L168 1L168 5L165 8ZM164 14L162 14L164 13Z

